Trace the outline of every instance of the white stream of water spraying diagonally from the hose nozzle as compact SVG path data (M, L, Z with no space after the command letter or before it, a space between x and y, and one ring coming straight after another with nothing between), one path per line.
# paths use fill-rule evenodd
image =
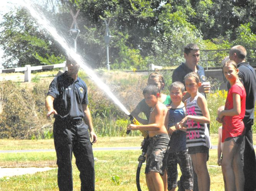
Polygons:
M124 111L127 115L130 115L130 112L124 107L124 105L117 99L117 97L111 92L109 87L101 81L101 79L94 73L94 71L86 65L85 60L74 52L74 49L68 45L68 42L62 37L56 28L50 23L50 21L46 18L44 13L35 5L35 3L31 2L31 0L24 0L21 3L22 6L29 11L30 15L36 20L38 25L42 26L46 31L51 34L51 36L61 45L61 47L65 50L66 54L69 57L72 57L77 63L80 64L81 68L86 72L89 78L92 79L96 83L96 85L101 88L106 94L114 101L116 105L118 105L122 111Z

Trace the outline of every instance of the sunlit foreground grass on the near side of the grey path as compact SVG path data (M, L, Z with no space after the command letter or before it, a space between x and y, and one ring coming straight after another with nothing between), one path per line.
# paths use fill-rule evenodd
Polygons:
M95 151L94 157L98 161L95 162L96 171L96 190L118 190L118 191L135 191L135 173L137 169L137 158L141 151ZM3 155L6 155L3 157ZM13 157L11 155L14 155ZM31 156L29 156L31 155ZM41 155L41 156L40 156ZM44 156L43 156L44 155ZM1 154L0 160L8 163L10 160L17 158L19 161L24 160L56 160L55 152L38 152L37 154L21 153L21 154ZM12 160L11 159L11 160ZM31 161L31 162L33 162ZM210 160L208 162L208 170L211 177L211 190L223 190L223 180L221 168L211 167L216 165L217 151L210 150ZM73 181L74 190L80 189L79 172L73 160ZM140 185L142 190L147 190L145 183L144 167L142 167ZM180 173L180 172L179 172ZM10 178L0 179L0 190L58 190L57 185L57 169L47 172L38 172L33 175L13 176Z

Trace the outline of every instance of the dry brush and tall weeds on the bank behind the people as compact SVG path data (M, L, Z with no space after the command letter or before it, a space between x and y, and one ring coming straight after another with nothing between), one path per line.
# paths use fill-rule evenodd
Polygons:
M101 76L117 99L131 112L143 98L142 89L146 85L149 73L111 71L101 73ZM169 85L172 83L172 72L161 73L165 76L166 81L164 93L168 94ZM79 76L88 86L89 109L96 134L98 136L126 136L126 127L130 123L129 117L101 89L88 80L86 74L81 73L80 75L79 72ZM46 81L40 79L37 83L30 84L5 81L1 84L0 138L53 138L54 119L53 117L46 119L45 109L45 97L51 80L52 78ZM215 118L218 107L225 104L227 92L218 89L218 81L208 80L211 81L213 87L210 94L207 94L211 117L210 133L218 133L218 127L221 124ZM256 132L256 124L253 125L253 132ZM132 131L129 134L129 136L137 135L140 135L139 131Z

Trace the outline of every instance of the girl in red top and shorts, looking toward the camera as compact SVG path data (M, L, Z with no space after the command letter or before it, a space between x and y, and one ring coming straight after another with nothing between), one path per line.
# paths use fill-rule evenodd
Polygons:
M238 78L238 68L233 60L223 65L223 74L231 88L226 98L225 110L218 113L216 120L222 123L223 159L221 168L228 190L243 190L244 175L241 163L246 92Z

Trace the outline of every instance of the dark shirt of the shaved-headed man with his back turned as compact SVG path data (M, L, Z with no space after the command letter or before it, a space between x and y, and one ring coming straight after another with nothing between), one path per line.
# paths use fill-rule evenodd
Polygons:
M249 65L249 62L241 62L237 65L239 69L238 76L241 83L244 85L246 92L245 103L245 118L253 119L254 117L254 105L256 101L256 74L253 67ZM228 89L230 89L230 83L228 83Z

